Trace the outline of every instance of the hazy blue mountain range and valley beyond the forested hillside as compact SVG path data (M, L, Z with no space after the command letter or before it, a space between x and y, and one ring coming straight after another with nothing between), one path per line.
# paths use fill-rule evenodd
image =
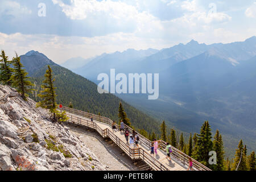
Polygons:
M100 73L159 73L159 98L144 94L115 94L134 107L185 132L199 132L209 120L224 134L226 146L241 137L256 147L256 37L244 42L204 44L195 40L160 51L148 49L105 53L77 74L98 84Z

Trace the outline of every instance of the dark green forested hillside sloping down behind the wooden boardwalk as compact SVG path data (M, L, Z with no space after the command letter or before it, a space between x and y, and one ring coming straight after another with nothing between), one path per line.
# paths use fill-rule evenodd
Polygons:
M118 121L118 106L119 102L122 102L127 117L134 127L144 129L150 133L152 131L159 133L160 124L156 119L148 117L148 115L126 104L126 102L112 94L99 94L96 84L66 68L59 65L52 65L51 68L55 78L58 104L68 106L71 102L75 109L94 114L100 113L105 117ZM36 94L41 90L40 85L46 69L47 67L45 66L31 76L31 81L35 84L35 89L38 90L31 95L35 101L40 99Z

